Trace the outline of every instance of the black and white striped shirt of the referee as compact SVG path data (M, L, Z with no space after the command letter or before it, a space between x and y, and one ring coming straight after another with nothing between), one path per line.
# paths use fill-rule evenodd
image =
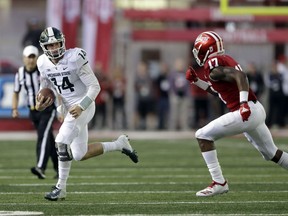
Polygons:
M25 67L20 67L15 75L14 92L19 93L25 88L27 96L27 106L34 110L36 105L36 95L40 87L40 72L36 67L34 71L28 72Z

